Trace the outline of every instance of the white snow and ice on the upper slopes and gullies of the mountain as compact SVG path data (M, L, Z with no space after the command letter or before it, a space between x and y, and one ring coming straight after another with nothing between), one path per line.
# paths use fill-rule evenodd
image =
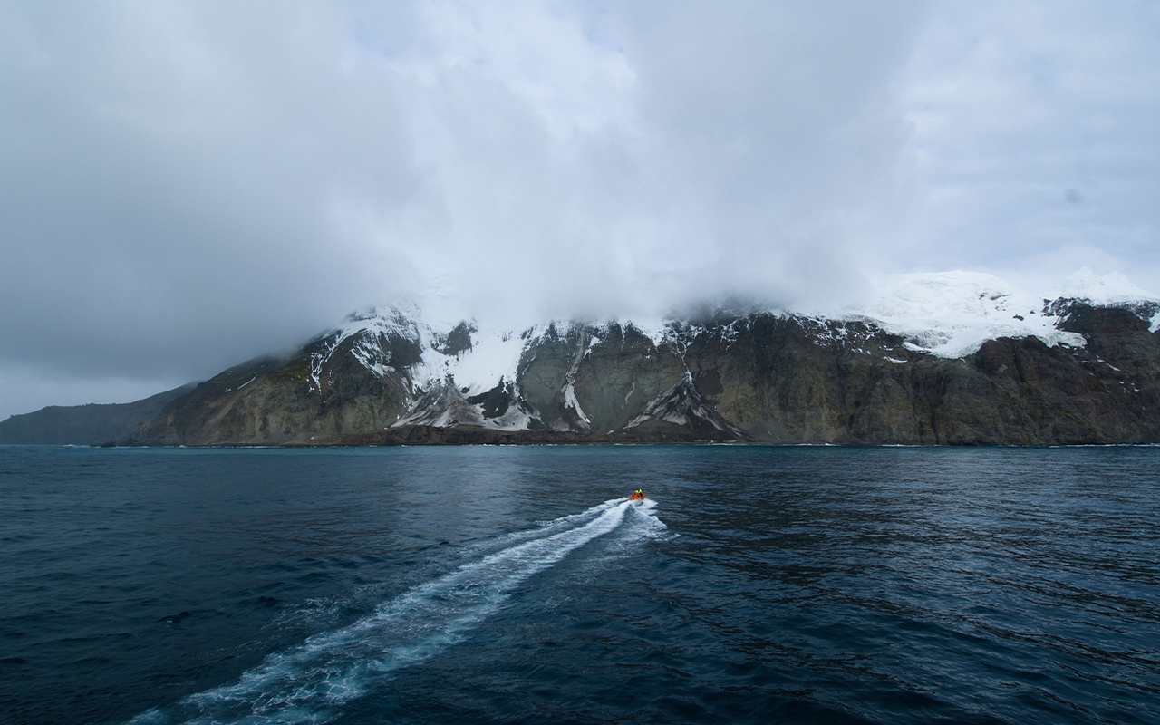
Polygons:
M1160 314L1157 314L1160 297L1137 288L1123 275L1099 276L1086 267L1050 290L1049 296L1029 293L984 273L905 274L884 278L871 302L836 314L771 313L798 317L822 327L836 324L840 334L853 329L843 322L864 322L902 338L909 351L960 358L998 338L1036 338L1049 347L1081 348L1086 345L1083 335L1059 327L1075 304L1131 310L1145 318L1153 332L1160 326ZM535 411L515 406L513 411L519 412L488 418L484 415L481 403L465 406L461 398L474 398L496 386L515 386L510 392L513 400L517 400L521 357L539 346L545 332L558 334L577 325L568 320L549 320L514 331L464 321L441 329L437 324L425 322L416 306L370 310L353 314L341 327L325 335L327 350L313 354L312 360L320 369L333 350L354 340L354 356L368 370L385 375L396 371L392 362L398 361L392 361L390 346L384 347L379 341L405 339L421 353L418 362L401 367L415 396L415 406L397 425L447 426L455 421L517 430L528 428L536 418ZM641 334L654 347L666 342L680 347L682 338L703 325L677 319L643 325L631 320L623 325L615 320L587 322L582 325L587 329L587 347L578 354L590 355L603 342L610 326ZM731 331L725 329L723 334L728 336ZM317 374L314 384L318 384ZM586 421L571 382L565 384L563 394L565 406L577 412L579 421Z

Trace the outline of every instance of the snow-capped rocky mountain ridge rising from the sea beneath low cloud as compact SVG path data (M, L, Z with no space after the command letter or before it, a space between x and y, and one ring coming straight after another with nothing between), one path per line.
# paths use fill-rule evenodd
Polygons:
M135 440L389 442L419 428L491 432L480 440L1138 438L1153 435L1141 421L1160 370L1148 347L1158 310L1160 298L1087 269L1047 295L979 273L897 275L869 303L829 314L718 310L509 329L378 309L289 360L223 372ZM1131 370L1109 357L1124 346Z

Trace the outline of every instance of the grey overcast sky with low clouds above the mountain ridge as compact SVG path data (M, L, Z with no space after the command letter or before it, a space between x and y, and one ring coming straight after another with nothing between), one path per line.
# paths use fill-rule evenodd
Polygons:
M1160 291L1160 3L0 0L0 419L422 299Z

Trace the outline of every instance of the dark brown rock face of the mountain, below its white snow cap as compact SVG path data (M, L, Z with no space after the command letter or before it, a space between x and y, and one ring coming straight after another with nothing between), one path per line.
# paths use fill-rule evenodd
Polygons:
M474 392L450 374L416 376L428 349L481 349L477 329L423 342L397 314L227 370L166 403L132 442L1160 442L1160 338L1140 317L1155 311L1057 303L1059 328L1085 347L1000 338L942 358L870 321L764 312L654 336L553 324L523 334L514 380Z

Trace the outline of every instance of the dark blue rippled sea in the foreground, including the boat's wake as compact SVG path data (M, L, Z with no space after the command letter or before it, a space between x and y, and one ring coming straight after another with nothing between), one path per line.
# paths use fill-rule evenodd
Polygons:
M0 448L0 722L1158 723L1160 449Z

